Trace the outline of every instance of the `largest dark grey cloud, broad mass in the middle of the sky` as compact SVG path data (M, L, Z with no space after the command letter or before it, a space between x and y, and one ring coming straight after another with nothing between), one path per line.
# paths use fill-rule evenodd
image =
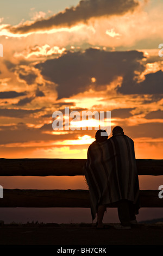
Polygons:
M47 80L58 84L58 99L61 99L89 89L92 77L96 78L92 83L96 90L101 90L117 76L132 81L134 71L145 70L138 61L142 58L143 52L139 51L109 52L89 48L85 52L67 51L60 58L36 64L35 68L40 69Z

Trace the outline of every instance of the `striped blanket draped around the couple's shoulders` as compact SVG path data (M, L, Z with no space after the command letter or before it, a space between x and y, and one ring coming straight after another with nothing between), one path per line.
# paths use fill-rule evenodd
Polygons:
M139 211L139 180L134 142L118 133L104 142L93 142L87 150L84 166L90 192L91 215L95 219L98 205L128 199Z

